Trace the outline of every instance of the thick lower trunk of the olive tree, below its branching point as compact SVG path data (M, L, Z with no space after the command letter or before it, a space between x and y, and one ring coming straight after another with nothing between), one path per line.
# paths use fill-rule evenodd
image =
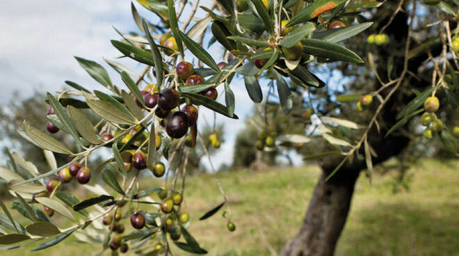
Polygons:
M341 175L346 173L346 175ZM309 202L300 232L282 249L280 256L331 256L343 230L359 171L343 170L325 182L323 170Z

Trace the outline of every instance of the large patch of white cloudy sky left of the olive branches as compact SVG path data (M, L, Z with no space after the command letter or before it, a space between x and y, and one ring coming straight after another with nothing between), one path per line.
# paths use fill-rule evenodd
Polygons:
M24 96L31 88L56 90L63 81L95 85L73 56L103 63L117 56L109 40L118 38L113 26L127 31L129 2L3 1L0 8L0 86L6 100L13 90Z

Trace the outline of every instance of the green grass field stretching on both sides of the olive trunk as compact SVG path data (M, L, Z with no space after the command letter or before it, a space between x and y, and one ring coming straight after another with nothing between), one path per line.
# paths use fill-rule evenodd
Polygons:
M421 161L410 174L410 191L395 194L394 174L376 174L372 185L362 175L336 255L459 255L459 161ZM184 196L188 230L208 255L275 255L298 231L318 177L316 166L221 174L235 232L226 230L223 211L198 221L223 198L214 176L191 177ZM30 248L0 255L94 255L100 246L70 238L38 253Z

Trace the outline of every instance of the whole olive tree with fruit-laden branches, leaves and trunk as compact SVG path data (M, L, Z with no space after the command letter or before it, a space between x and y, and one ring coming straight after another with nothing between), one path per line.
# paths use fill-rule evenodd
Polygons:
M422 136L433 139L439 134L445 148L458 156L458 141L453 138L459 132L458 118L453 118L457 117L459 88L456 0L218 0L211 6L200 6L195 0L187 15L188 1L138 2L161 22L152 24L140 17L133 4L131 12L141 33L118 31L122 39L112 40L111 45L143 65L143 71L136 74L107 61L124 83L117 86L102 65L77 57L81 67L110 93L66 81L68 90L56 92L57 96L47 93L48 133L27 120L18 130L45 150L51 170L39 173L33 163L20 157L0 169L0 177L17 198L13 209L30 220L25 227L17 223L1 202L5 211L1 225L8 232L0 230L4 233L0 243L16 243L3 250L47 239L32 249L42 250L74 234L81 241L101 242L99 254L108 248L124 253L128 242L131 249L146 255L168 255L173 246L207 253L187 231L188 213L180 207L186 200L182 197L186 166L197 143L209 156L196 125L198 113L210 109L238 118L232 86L242 79L250 99L266 106L257 148L270 151L298 147L312 139L325 142L318 147L322 152L309 156L320 159L323 173L303 225L280 255L334 253L360 171L366 168L371 179L374 165L401 152L416 135L407 128L414 117L424 126ZM433 15L419 15L419 6L428 6ZM207 12L202 19L195 19L198 8ZM433 29L435 33L426 33ZM364 31L371 31L368 38ZM210 40L205 40L206 34L212 35ZM227 63L216 63L209 54L213 44L227 52ZM189 62L193 60L198 65ZM355 87L346 86L346 93L335 99L330 92L336 85L319 78L321 70L333 69L341 70L343 77L365 76L356 77ZM261 85L266 81L264 95ZM217 88L225 94L224 104L216 101ZM83 109L99 120L91 122ZM282 125L270 124L267 117L278 109L287 121L303 120L305 132L277 134L276 127ZM318 122L307 121L312 114ZM70 134L76 147L70 149L50 135L58 131ZM214 147L220 143L217 134L208 141ZM112 157L90 170L88 158L101 147L111 148ZM57 166L54 154L66 154L72 161ZM17 166L29 173L19 175ZM139 175L148 170L161 177L164 186L138 191ZM91 183L95 172L111 193ZM99 195L77 198L62 191L74 176ZM179 179L182 186L177 185ZM217 175L216 179L223 202L202 214L201 220L229 208L225 188ZM139 205L151 207L139 211ZM71 224L57 227L51 218L55 212ZM228 230L234 231L230 213L228 209L223 216L228 218ZM128 216L134 231L124 234L127 227L122 216Z

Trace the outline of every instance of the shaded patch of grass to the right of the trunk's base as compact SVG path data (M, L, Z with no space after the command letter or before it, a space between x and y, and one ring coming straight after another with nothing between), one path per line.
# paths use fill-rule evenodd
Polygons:
M459 255L459 205L383 203L354 211L336 255Z

